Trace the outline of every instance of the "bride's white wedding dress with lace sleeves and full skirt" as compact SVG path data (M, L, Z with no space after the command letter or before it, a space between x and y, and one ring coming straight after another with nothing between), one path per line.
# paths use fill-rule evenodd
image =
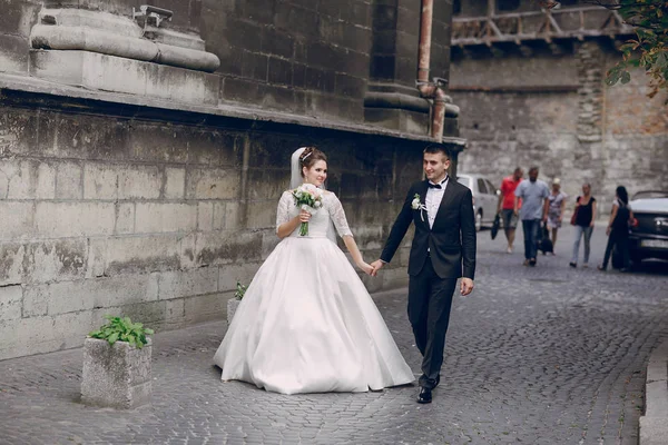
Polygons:
M289 191L276 227L298 212ZM214 362L223 380L267 390L365 392L414 380L383 317L343 251L327 238L330 218L352 235L338 198L283 239L262 265L237 308Z

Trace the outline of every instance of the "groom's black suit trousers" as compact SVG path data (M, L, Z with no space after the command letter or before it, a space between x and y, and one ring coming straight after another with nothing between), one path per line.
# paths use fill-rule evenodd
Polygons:
M420 386L433 388L436 385L456 280L439 278L429 258L420 274L410 277L409 320L423 357Z

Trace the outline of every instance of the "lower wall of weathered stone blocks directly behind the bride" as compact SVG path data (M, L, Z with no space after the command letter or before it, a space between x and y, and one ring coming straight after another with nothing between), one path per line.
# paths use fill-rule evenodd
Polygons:
M157 329L224 319L278 243L299 146L330 155L328 187L369 260L421 175L421 141L97 116L20 95L27 107L0 101L0 359L80 346L107 314ZM405 284L401 257L371 289Z

